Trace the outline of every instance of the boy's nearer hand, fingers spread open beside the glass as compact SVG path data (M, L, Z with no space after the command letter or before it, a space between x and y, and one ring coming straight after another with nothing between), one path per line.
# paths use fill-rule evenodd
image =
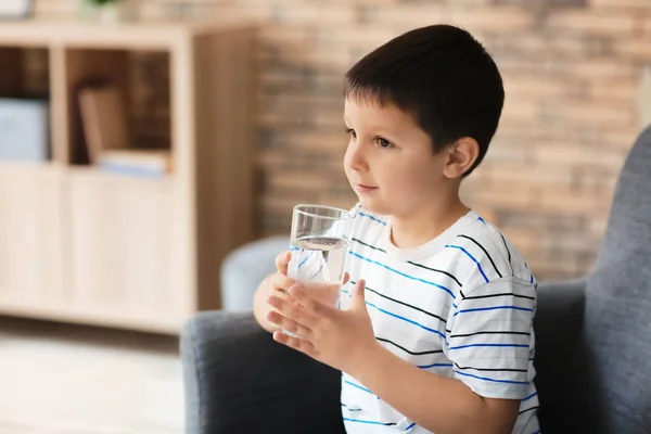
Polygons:
M379 346L365 302L365 282L353 292L348 310L340 310L316 299L299 282L286 290L286 297L269 296L276 310L267 319L297 337L275 332L273 339L289 347L344 372L354 372L367 361L366 355Z

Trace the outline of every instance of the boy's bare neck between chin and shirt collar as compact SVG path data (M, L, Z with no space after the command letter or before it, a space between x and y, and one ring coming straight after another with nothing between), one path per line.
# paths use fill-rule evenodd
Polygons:
M426 244L463 217L470 208L458 194L442 197L409 216L392 216L391 241L398 248Z

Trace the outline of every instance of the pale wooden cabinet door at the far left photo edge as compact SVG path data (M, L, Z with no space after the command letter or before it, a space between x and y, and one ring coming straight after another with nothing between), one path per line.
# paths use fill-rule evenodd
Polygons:
M63 294L62 174L0 164L0 303L59 303Z

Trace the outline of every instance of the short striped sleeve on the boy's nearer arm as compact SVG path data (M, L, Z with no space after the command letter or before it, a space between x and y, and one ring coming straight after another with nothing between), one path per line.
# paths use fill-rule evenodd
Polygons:
M454 378L488 398L523 399L533 381L536 288L509 277L463 294L448 318Z

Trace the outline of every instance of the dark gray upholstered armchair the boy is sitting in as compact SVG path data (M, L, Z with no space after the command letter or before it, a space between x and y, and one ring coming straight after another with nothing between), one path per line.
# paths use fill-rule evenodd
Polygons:
M229 258L225 291L242 294L230 308L250 306L283 248L286 240L268 240ZM542 433L651 433L650 260L651 128L622 170L593 271L539 286ZM189 434L344 432L340 373L275 343L250 311L196 315L181 353Z

